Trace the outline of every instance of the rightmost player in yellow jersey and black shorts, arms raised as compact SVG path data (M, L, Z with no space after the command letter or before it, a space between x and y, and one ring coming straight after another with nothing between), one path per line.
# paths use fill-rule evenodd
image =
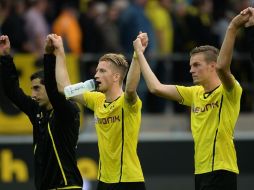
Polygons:
M249 14L233 18L220 52L209 45L190 52L190 73L195 84L190 87L161 84L144 57L140 39L133 42L149 90L191 107L196 190L237 189L239 170L233 140L242 88L230 64L237 30L248 18Z

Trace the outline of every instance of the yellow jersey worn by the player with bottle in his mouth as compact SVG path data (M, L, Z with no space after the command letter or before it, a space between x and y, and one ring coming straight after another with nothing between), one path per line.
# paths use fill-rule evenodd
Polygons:
M86 107L94 111L98 136L98 180L105 183L143 182L137 155L142 102L128 104L124 93L107 103L100 92L85 92Z

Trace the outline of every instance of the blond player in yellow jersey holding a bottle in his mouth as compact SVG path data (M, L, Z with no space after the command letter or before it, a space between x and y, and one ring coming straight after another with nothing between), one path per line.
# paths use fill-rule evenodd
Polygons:
M148 37L141 33L142 52ZM62 39L55 34L50 38L56 48L62 48ZM57 82L59 90L70 86L64 52L57 56ZM94 111L98 136L99 169L97 190L145 190L141 164L137 155L141 123L141 106L136 89L140 68L134 56L127 75L125 91L123 81L128 63L121 54L105 54L99 59L93 92L73 96L72 99Z

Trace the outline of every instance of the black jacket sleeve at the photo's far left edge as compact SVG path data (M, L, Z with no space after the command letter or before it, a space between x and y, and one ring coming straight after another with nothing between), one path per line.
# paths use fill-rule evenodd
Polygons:
M32 116L37 103L27 96L19 86L19 79L13 58L9 55L0 57L1 79L6 96L25 114Z

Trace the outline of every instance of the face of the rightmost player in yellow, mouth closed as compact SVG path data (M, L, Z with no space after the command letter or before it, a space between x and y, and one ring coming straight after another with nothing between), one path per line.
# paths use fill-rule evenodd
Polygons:
M209 80L212 71L212 64L208 64L204 54L197 53L190 58L190 73L193 83L196 85L205 84Z

